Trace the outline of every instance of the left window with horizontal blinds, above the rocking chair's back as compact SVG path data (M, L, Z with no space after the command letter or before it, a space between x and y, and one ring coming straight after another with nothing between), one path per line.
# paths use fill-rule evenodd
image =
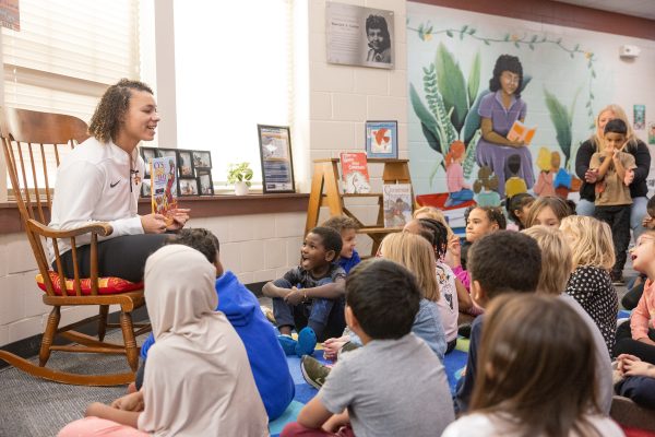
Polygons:
M21 32L2 28L4 105L88 122L120 78L139 78L138 0L21 0Z

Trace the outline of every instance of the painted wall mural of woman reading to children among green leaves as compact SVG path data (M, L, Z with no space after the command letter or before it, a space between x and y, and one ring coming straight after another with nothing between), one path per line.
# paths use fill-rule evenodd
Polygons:
M588 35L563 29L408 3L409 166L419 201L463 211L579 188L575 152L610 103L609 74Z

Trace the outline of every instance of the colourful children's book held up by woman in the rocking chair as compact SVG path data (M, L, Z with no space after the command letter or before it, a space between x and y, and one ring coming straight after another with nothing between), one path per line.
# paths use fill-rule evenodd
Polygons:
M172 223L170 211L177 209L177 168L170 156L151 161L151 192L153 214L166 216L166 224Z

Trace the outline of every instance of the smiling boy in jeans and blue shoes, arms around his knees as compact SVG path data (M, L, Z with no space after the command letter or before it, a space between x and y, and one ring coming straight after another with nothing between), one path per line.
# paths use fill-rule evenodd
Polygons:
M266 283L262 293L273 299L273 314L287 355L311 355L317 341L341 334L344 318L346 272L337 261L341 235L330 227L314 227L305 237L300 265ZM298 341L291 330L298 332Z

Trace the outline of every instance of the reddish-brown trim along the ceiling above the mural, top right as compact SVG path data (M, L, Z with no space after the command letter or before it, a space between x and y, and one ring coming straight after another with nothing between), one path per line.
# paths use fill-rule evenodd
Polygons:
M552 0L413 0L417 3L461 9L511 19L536 21L567 27L635 38L655 39L655 20L560 3Z

